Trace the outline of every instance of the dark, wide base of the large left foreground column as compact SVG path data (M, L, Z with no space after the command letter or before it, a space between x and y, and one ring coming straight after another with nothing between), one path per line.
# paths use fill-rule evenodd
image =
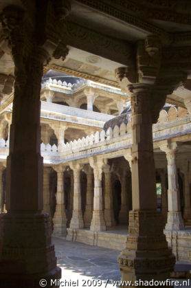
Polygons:
M48 214L0 215L0 287L39 287L60 279ZM54 286L53 286L54 287Z

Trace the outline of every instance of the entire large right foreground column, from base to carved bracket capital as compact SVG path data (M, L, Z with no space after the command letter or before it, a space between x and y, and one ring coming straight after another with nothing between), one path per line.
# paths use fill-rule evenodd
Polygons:
M126 248L118 263L122 280L161 280L169 278L175 256L168 248L161 212L157 211L153 157L152 124L166 99L166 90L155 87L160 83L159 38L149 35L145 41L139 41L136 58L129 57L127 62L128 66L117 69L115 75L121 87L131 93L133 210L129 212Z

